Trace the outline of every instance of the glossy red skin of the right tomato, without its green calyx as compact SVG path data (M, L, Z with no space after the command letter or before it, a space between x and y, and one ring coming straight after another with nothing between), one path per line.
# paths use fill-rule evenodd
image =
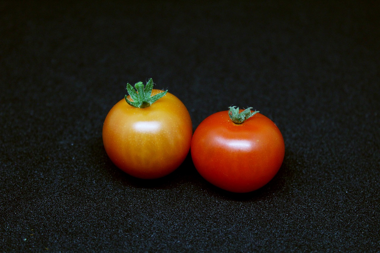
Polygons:
M285 144L279 128L268 117L256 113L235 124L228 111L223 111L199 124L190 150L204 179L224 190L245 193L263 187L275 176Z

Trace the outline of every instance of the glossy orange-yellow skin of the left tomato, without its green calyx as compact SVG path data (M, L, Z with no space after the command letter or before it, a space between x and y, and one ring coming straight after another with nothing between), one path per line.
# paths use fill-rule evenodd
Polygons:
M153 89L152 96L160 92ZM134 177L156 179L185 160L192 134L185 105L168 92L146 108L120 100L107 114L102 135L106 153L118 168Z

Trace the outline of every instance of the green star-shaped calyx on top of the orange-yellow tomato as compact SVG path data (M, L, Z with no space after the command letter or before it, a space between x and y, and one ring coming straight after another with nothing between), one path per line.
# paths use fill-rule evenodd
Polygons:
M127 91L133 101L130 101L127 95L124 96L125 101L127 101L127 103L130 106L133 106L136 108L146 108L146 107L149 107L151 104L153 104L155 101L165 96L165 94L168 92L168 90L166 90L164 92L151 96L152 90L153 90L152 78L149 79L145 87L142 82L136 82L135 88L133 88L132 85L127 83Z

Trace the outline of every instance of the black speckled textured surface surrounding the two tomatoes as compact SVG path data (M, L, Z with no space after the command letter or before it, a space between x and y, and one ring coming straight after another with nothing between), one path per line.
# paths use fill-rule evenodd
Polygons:
M378 2L0 2L0 251L380 251ZM230 105L282 131L275 178L212 187L190 156L136 180L101 128L127 82L194 129Z

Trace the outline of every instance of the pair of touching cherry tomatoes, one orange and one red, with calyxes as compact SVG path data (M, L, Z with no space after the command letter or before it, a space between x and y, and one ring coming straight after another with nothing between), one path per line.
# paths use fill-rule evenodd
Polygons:
M190 146L195 168L213 185L249 192L279 170L285 145L277 126L249 109L231 107L207 117L194 134L190 114L173 94L153 88L149 79L115 104L103 124L103 143L111 161L131 176L155 179L173 172Z

